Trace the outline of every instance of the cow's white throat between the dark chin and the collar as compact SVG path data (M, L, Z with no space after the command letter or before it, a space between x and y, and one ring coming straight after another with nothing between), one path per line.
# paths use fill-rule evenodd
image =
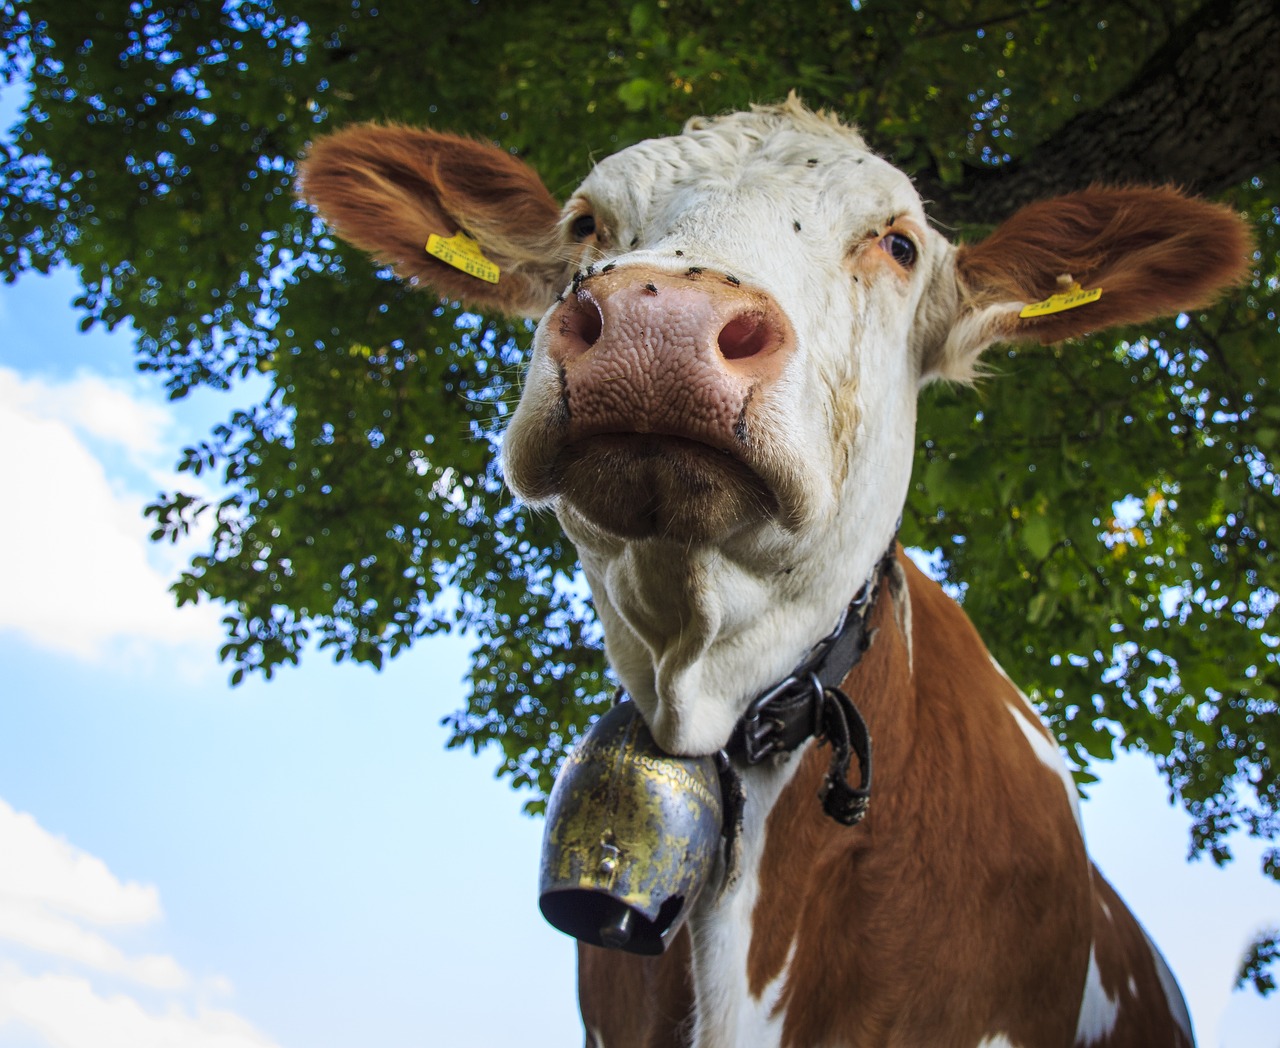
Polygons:
M882 516L801 541L778 527L714 546L609 541L561 518L611 664L659 745L695 754L721 749L748 703L831 632L895 530Z

